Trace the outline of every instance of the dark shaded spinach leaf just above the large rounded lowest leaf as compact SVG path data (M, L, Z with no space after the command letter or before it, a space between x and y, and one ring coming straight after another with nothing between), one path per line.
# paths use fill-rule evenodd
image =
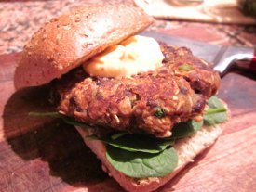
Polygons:
M115 134L114 134L115 135ZM155 138L146 134L123 134L120 137L113 139L112 136L107 136L100 139L101 141L113 147L121 148L131 152L144 153L159 153L165 150L168 146L173 145L174 140Z

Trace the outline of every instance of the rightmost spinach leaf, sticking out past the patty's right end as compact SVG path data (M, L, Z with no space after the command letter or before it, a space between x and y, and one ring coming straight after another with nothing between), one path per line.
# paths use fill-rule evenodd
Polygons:
M211 96L207 102L209 109L204 115L205 125L214 125L225 122L227 113L222 101L217 96Z

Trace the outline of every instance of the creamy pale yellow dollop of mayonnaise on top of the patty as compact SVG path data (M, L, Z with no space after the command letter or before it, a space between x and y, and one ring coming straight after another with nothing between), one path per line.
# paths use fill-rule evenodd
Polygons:
M83 67L90 76L130 77L161 67L164 56L154 38L135 35L108 47Z

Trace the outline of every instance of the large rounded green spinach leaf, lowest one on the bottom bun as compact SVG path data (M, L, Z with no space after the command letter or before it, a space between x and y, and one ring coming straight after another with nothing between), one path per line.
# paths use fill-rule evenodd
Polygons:
M173 147L150 154L108 146L106 157L116 170L133 178L165 176L178 165L178 155Z

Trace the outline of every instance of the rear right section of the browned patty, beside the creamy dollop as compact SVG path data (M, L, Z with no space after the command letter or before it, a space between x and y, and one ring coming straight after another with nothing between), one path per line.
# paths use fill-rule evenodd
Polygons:
M161 44L161 50L165 56L164 65L175 76L190 83L195 93L209 97L217 92L221 83L220 75L206 61L196 58L190 49Z

